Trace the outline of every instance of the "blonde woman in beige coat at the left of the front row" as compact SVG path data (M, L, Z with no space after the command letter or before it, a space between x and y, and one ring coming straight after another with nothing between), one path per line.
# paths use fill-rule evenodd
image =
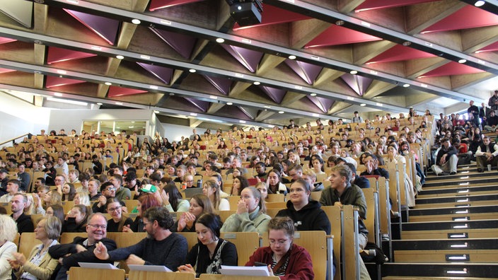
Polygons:
M55 216L46 216L38 221L35 238L42 244L33 247L28 258L23 253L14 252L13 259L9 261L17 279L50 279L58 260L50 257L47 252L50 246L58 244L61 228L61 221Z

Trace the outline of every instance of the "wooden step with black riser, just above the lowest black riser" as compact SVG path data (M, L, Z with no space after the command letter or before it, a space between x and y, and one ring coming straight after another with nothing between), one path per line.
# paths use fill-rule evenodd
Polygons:
M393 240L394 262L496 263L497 239Z

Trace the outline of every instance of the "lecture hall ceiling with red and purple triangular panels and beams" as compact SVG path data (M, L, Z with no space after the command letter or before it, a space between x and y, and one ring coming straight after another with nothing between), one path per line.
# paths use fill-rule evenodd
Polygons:
M494 0L265 0L244 27L224 0L3 0L0 12L1 88L192 126L449 112L498 88Z

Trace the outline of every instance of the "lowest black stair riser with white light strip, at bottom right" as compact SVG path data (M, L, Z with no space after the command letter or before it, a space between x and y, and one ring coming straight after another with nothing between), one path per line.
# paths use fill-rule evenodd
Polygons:
M498 264L417 264L412 262L389 262L383 264L382 276L383 279L498 279ZM395 278L387 278L388 276Z

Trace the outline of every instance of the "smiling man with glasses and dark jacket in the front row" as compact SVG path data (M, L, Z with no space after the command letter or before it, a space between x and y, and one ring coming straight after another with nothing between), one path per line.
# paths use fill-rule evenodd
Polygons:
M54 259L60 259L61 264L59 271L54 272L55 279L66 280L67 272L71 267L79 267L79 262L108 262L102 261L95 257L93 249L99 243L107 248L107 250L115 250L116 243L114 240L105 238L107 235L107 221L105 216L100 213L92 214L88 218L88 225L86 226L87 238L76 237L72 243L53 245L49 248L48 253ZM57 269L56 269L57 271Z

